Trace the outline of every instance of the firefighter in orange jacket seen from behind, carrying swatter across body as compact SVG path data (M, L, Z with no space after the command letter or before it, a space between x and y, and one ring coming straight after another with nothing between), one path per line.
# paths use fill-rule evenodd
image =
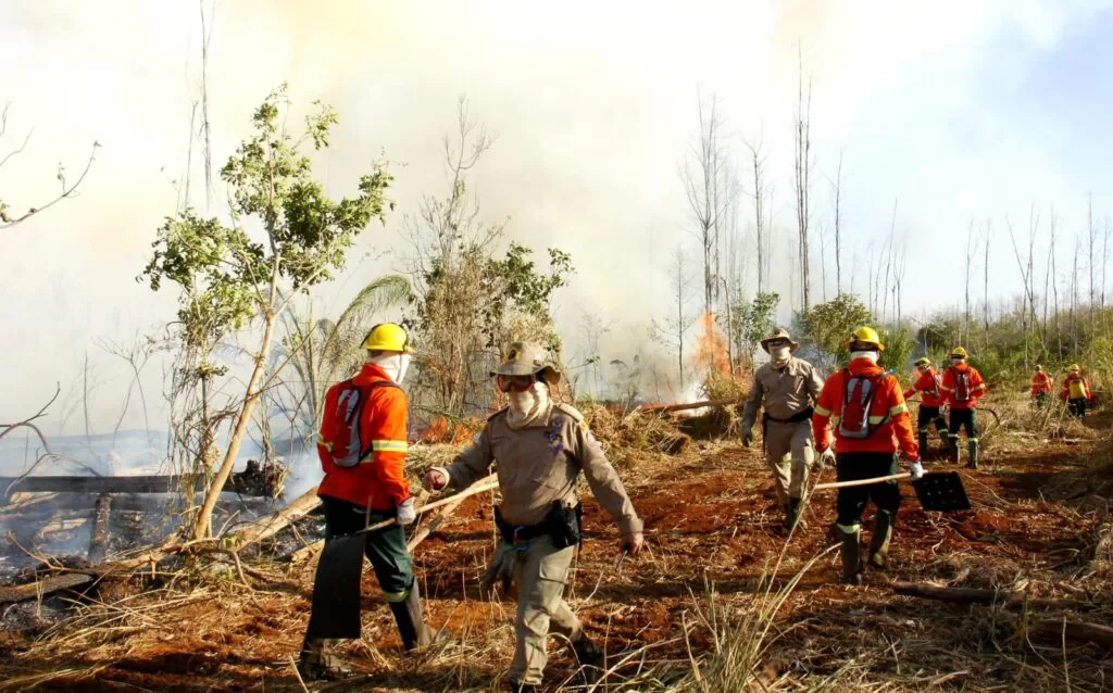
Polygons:
M847 341L848 367L824 383L811 417L816 446L827 455L828 426L835 428L835 457L839 482L876 478L897 473L897 451L908 458L913 478L924 475L919 447L912 432L896 376L877 365L885 350L871 327L859 327ZM868 563L885 567L893 525L900 506L895 481L838 489L834 534L843 542L843 580L861 584L861 513L873 498L877 506Z

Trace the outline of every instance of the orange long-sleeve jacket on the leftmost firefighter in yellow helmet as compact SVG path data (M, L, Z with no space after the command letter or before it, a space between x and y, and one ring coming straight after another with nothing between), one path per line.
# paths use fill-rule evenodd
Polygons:
M373 383L393 383L375 364L364 364L352 380L366 388L368 397L359 418L359 438L370 453L354 467L339 467L333 462L331 447L336 432L331 413L336 410L343 383L332 386L325 395L325 416L317 442L325 472L317 495L390 511L410 497L405 474L410 402L400 387L371 387Z

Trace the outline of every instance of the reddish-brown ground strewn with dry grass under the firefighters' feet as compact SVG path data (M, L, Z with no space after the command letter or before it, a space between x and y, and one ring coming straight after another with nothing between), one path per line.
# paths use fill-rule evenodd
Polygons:
M904 484L892 565L868 573L861 587L837 583L837 550L827 534L834 492L818 492L807 529L788 537L758 449L693 443L680 457L648 455L624 476L649 545L621 574L617 528L585 499L587 539L569 601L615 667L607 690L679 685L693 660L705 671L741 666L749 661L739 654L742 645L752 646L766 690L1113 685L1105 683L1113 682L1113 660L1104 647L1036 627L1052 620L1113 624L1106 564L1094 561L1113 486L1099 435L1109 423L1094 417L1073 438L1054 442L999 434L984 468L961 472L973 511L925 512ZM834 472L819 478L834 481ZM498 687L514 605L479 593L492 546L490 497L481 496L416 550L427 621L450 628L455 641L413 656L401 652L368 571L364 635L337 649L359 676L323 690ZM301 691L292 657L308 617L312 564L253 566L247 585L230 567L108 584L60 623L36 623L35 604L20 605L23 625L0 633L0 689ZM1013 607L927 601L894 594L893 581L1023 590L1032 601ZM759 640L762 613L771 625ZM575 683L574 674L570 655L554 645L553 690Z

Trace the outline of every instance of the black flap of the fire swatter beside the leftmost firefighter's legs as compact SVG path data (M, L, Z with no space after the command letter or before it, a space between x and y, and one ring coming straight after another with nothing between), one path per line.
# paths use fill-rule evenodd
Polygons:
M325 541L313 585L308 637L359 637L359 581L366 534Z

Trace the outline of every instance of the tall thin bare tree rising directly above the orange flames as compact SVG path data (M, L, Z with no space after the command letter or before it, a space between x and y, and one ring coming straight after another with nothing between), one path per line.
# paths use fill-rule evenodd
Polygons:
M680 177L703 254L703 309L711 313L719 296L717 263L719 226L726 202L722 189L726 152L718 96L711 95L710 100L705 101L702 95L697 92L697 107L699 135L681 165Z

